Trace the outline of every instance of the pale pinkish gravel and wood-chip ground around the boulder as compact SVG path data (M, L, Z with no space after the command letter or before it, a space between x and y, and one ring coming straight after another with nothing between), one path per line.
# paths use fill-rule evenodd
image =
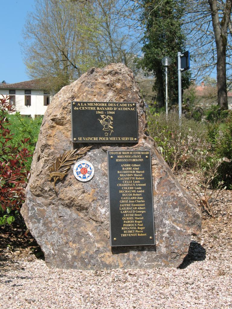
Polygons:
M204 217L202 231L178 269L49 269L26 246L5 246L0 308L232 308L231 206L232 192L224 191L215 218Z

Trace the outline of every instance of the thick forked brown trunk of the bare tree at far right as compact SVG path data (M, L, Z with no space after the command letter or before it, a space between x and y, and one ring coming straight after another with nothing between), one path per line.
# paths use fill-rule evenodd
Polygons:
M217 104L222 109L228 109L226 89L226 44L232 0L226 0L226 6L221 23L218 16L217 0L208 0L208 3L210 5L213 31L217 48Z

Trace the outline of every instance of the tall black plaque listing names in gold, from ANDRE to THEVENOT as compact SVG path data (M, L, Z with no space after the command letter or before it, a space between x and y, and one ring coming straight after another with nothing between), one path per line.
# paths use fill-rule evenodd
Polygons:
M154 245L150 151L107 154L111 246Z

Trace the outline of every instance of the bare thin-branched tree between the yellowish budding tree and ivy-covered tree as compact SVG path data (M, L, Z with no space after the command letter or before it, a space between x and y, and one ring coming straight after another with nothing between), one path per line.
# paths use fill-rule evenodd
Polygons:
M100 21L97 53L104 63L125 62L126 66L136 70L134 59L140 52L140 44L132 21L125 22L125 7L123 2L115 0L96 0L95 18ZM123 9L124 8L124 9ZM135 38L136 37L136 38Z

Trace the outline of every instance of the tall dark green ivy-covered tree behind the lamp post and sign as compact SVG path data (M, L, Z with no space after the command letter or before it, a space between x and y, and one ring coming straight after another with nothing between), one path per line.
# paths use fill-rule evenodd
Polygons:
M178 101L178 75L176 58L178 51L185 49L185 36L182 32L184 1L143 0L142 19L145 25L142 52L144 57L139 65L155 75L154 90L157 91L159 106L164 105L165 68L161 64L164 56L172 59L169 67L169 98L172 103ZM189 73L182 74L183 89L189 86Z

